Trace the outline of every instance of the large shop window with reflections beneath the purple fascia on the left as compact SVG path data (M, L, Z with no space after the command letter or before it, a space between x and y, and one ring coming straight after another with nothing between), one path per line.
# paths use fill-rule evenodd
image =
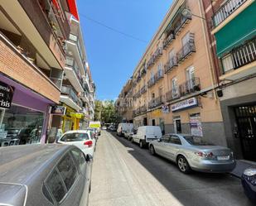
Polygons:
M0 146L25 145L41 141L44 113L12 105L1 113Z

